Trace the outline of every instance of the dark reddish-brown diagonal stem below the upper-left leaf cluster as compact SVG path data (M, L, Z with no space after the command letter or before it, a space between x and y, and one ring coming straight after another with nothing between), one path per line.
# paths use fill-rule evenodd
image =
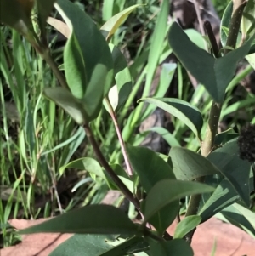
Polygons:
M110 175L111 179L116 183L116 185L122 191L124 196L126 196L127 199L130 202L132 202L136 208L140 209L139 200L137 198L133 197L133 194L127 189L127 186L124 185L122 180L115 174L114 170L111 168L109 163L105 160L105 156L100 151L99 145L96 142L96 140L94 139L94 134L92 133L92 130L90 129L88 124L85 124L83 128L87 134L90 144L92 145L92 147L94 149L94 153L97 156L99 163L102 165L103 168L105 168L105 171L107 172L107 174Z

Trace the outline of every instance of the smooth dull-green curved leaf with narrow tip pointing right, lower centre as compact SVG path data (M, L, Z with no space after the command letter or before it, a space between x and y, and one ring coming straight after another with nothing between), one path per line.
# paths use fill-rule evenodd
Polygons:
M183 196L212 191L214 191L212 186L201 183L175 179L163 179L154 185L144 200L144 223L150 221L150 218L167 206L167 204L174 202Z

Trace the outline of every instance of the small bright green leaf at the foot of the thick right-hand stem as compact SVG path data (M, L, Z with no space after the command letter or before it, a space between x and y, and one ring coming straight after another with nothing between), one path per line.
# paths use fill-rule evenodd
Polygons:
M185 217L181 222L178 223L174 231L173 239L183 238L191 230L194 230L195 227L198 226L200 223L201 223L200 216L191 215L191 216Z

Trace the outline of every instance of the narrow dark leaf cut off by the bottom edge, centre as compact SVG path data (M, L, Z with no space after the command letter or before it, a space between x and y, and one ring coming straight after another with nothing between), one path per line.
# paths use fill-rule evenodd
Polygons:
M148 243L144 241L143 237L133 236L127 239L125 242L111 248L109 251L100 254L99 256L122 256L133 253L143 252L149 247Z

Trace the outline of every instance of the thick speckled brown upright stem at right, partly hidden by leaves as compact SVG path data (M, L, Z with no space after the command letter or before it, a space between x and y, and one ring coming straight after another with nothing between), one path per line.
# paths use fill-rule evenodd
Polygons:
M233 14L232 14L232 18L229 26L229 37L227 39L227 46L235 48L235 44L236 44L236 40L237 40L239 28L240 28L240 23L241 23L242 13L246 5L246 0L233 0L233 3L234 3L234 9L233 9ZM224 54L227 54L227 53L228 51L224 52ZM213 149L215 135L217 134L217 130L218 130L218 121L220 117L221 108L222 108L222 103L217 103L214 100L212 101L212 107L211 107L211 111L208 119L206 136L201 145L202 156L205 156L205 157L208 156L208 154ZM205 177L195 179L195 181L203 183L205 181ZM190 196L190 203L187 209L186 216L197 214L200 201L201 201L201 195ZM185 236L185 239L187 242L191 243L194 232L195 232L195 229L191 230L190 233L188 233Z

